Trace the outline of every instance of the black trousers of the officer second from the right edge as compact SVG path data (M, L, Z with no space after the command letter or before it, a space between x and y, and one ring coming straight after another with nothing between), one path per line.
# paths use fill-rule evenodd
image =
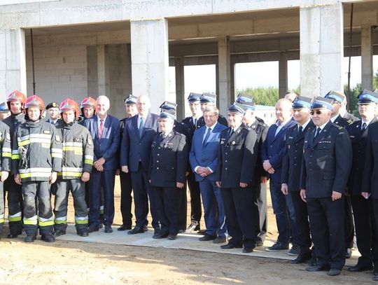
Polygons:
M363 266L372 265L373 238L376 236L372 204L372 198L365 199L361 195L351 196L356 242L361 254L358 263Z

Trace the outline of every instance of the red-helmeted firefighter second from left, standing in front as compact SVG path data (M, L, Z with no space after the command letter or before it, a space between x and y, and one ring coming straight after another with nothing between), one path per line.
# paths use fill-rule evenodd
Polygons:
M12 173L24 197L25 242L34 242L38 226L42 240L55 242L50 184L62 170L62 137L53 125L41 120L44 107L37 95L27 98L26 121L18 126L12 141Z

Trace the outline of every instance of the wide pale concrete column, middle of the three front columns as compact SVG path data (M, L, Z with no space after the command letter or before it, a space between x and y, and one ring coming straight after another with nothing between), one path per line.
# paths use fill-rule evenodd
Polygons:
M132 20L132 94L151 97L151 111L169 98L168 22L166 19Z

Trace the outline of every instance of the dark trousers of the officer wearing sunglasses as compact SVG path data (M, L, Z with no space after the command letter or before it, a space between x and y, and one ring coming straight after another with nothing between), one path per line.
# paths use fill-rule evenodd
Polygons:
M331 197L307 197L311 237L319 265L341 270L345 264L344 208L344 196L336 201Z

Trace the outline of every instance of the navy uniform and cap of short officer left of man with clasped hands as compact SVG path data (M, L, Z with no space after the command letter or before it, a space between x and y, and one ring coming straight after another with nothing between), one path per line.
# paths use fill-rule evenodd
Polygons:
M172 120L174 116L162 112L160 119ZM168 237L176 239L179 232L179 207L182 191L176 183L186 182L188 169L188 144L186 137L172 130L165 134L155 135L151 146L151 166L149 177L151 180L155 207L160 222L160 232L154 238Z

